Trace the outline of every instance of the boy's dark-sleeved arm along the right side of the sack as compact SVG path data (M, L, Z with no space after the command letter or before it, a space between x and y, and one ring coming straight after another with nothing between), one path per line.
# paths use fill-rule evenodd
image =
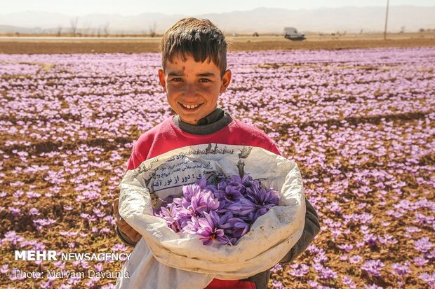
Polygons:
M302 236L296 242L295 246L293 246L287 255L279 261L280 263L287 263L295 260L297 256L305 251L308 245L313 241L316 234L320 232L319 216L317 216L316 209L314 209L312 204L308 202L307 198L305 198L305 207L304 232L302 232Z

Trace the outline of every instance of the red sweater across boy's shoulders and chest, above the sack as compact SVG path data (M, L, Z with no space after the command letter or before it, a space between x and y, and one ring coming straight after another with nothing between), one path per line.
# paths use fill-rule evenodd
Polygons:
M171 116L139 137L128 160L127 169L135 169L144 160L175 150L175 148L206 143L257 146L276 153L276 155L281 155L265 132L239 120L233 120L229 125L213 134L201 136L183 132L175 126L173 116Z

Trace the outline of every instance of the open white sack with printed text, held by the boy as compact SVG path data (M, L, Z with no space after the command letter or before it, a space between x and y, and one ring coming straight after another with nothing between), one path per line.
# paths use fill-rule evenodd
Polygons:
M196 235L175 233L166 220L153 216L159 198L181 195L182 185L204 174L239 175L238 164L265 187L279 190L281 199L279 206L257 218L236 246L204 246ZM119 213L142 239L123 265L124 277L116 288L202 289L214 278L245 279L274 267L304 228L304 189L297 164L262 148L213 143L171 150L127 171L119 188Z

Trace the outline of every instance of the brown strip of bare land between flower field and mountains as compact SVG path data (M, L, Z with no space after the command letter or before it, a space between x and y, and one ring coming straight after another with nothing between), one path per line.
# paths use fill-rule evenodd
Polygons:
M434 34L405 34L389 36L384 40L380 35L320 37L311 36L306 41L288 41L281 36L228 37L230 51L240 50L334 50L348 48L377 47L421 47L435 46ZM138 53L159 52L159 38L0 38L0 53Z

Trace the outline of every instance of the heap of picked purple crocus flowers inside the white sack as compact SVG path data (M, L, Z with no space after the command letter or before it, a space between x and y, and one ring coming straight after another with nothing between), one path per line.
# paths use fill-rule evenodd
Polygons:
M182 196L168 198L154 215L175 232L198 235L204 245L215 240L235 245L258 217L278 203L279 192L263 188L249 175L221 178L217 185L201 178L184 185Z

